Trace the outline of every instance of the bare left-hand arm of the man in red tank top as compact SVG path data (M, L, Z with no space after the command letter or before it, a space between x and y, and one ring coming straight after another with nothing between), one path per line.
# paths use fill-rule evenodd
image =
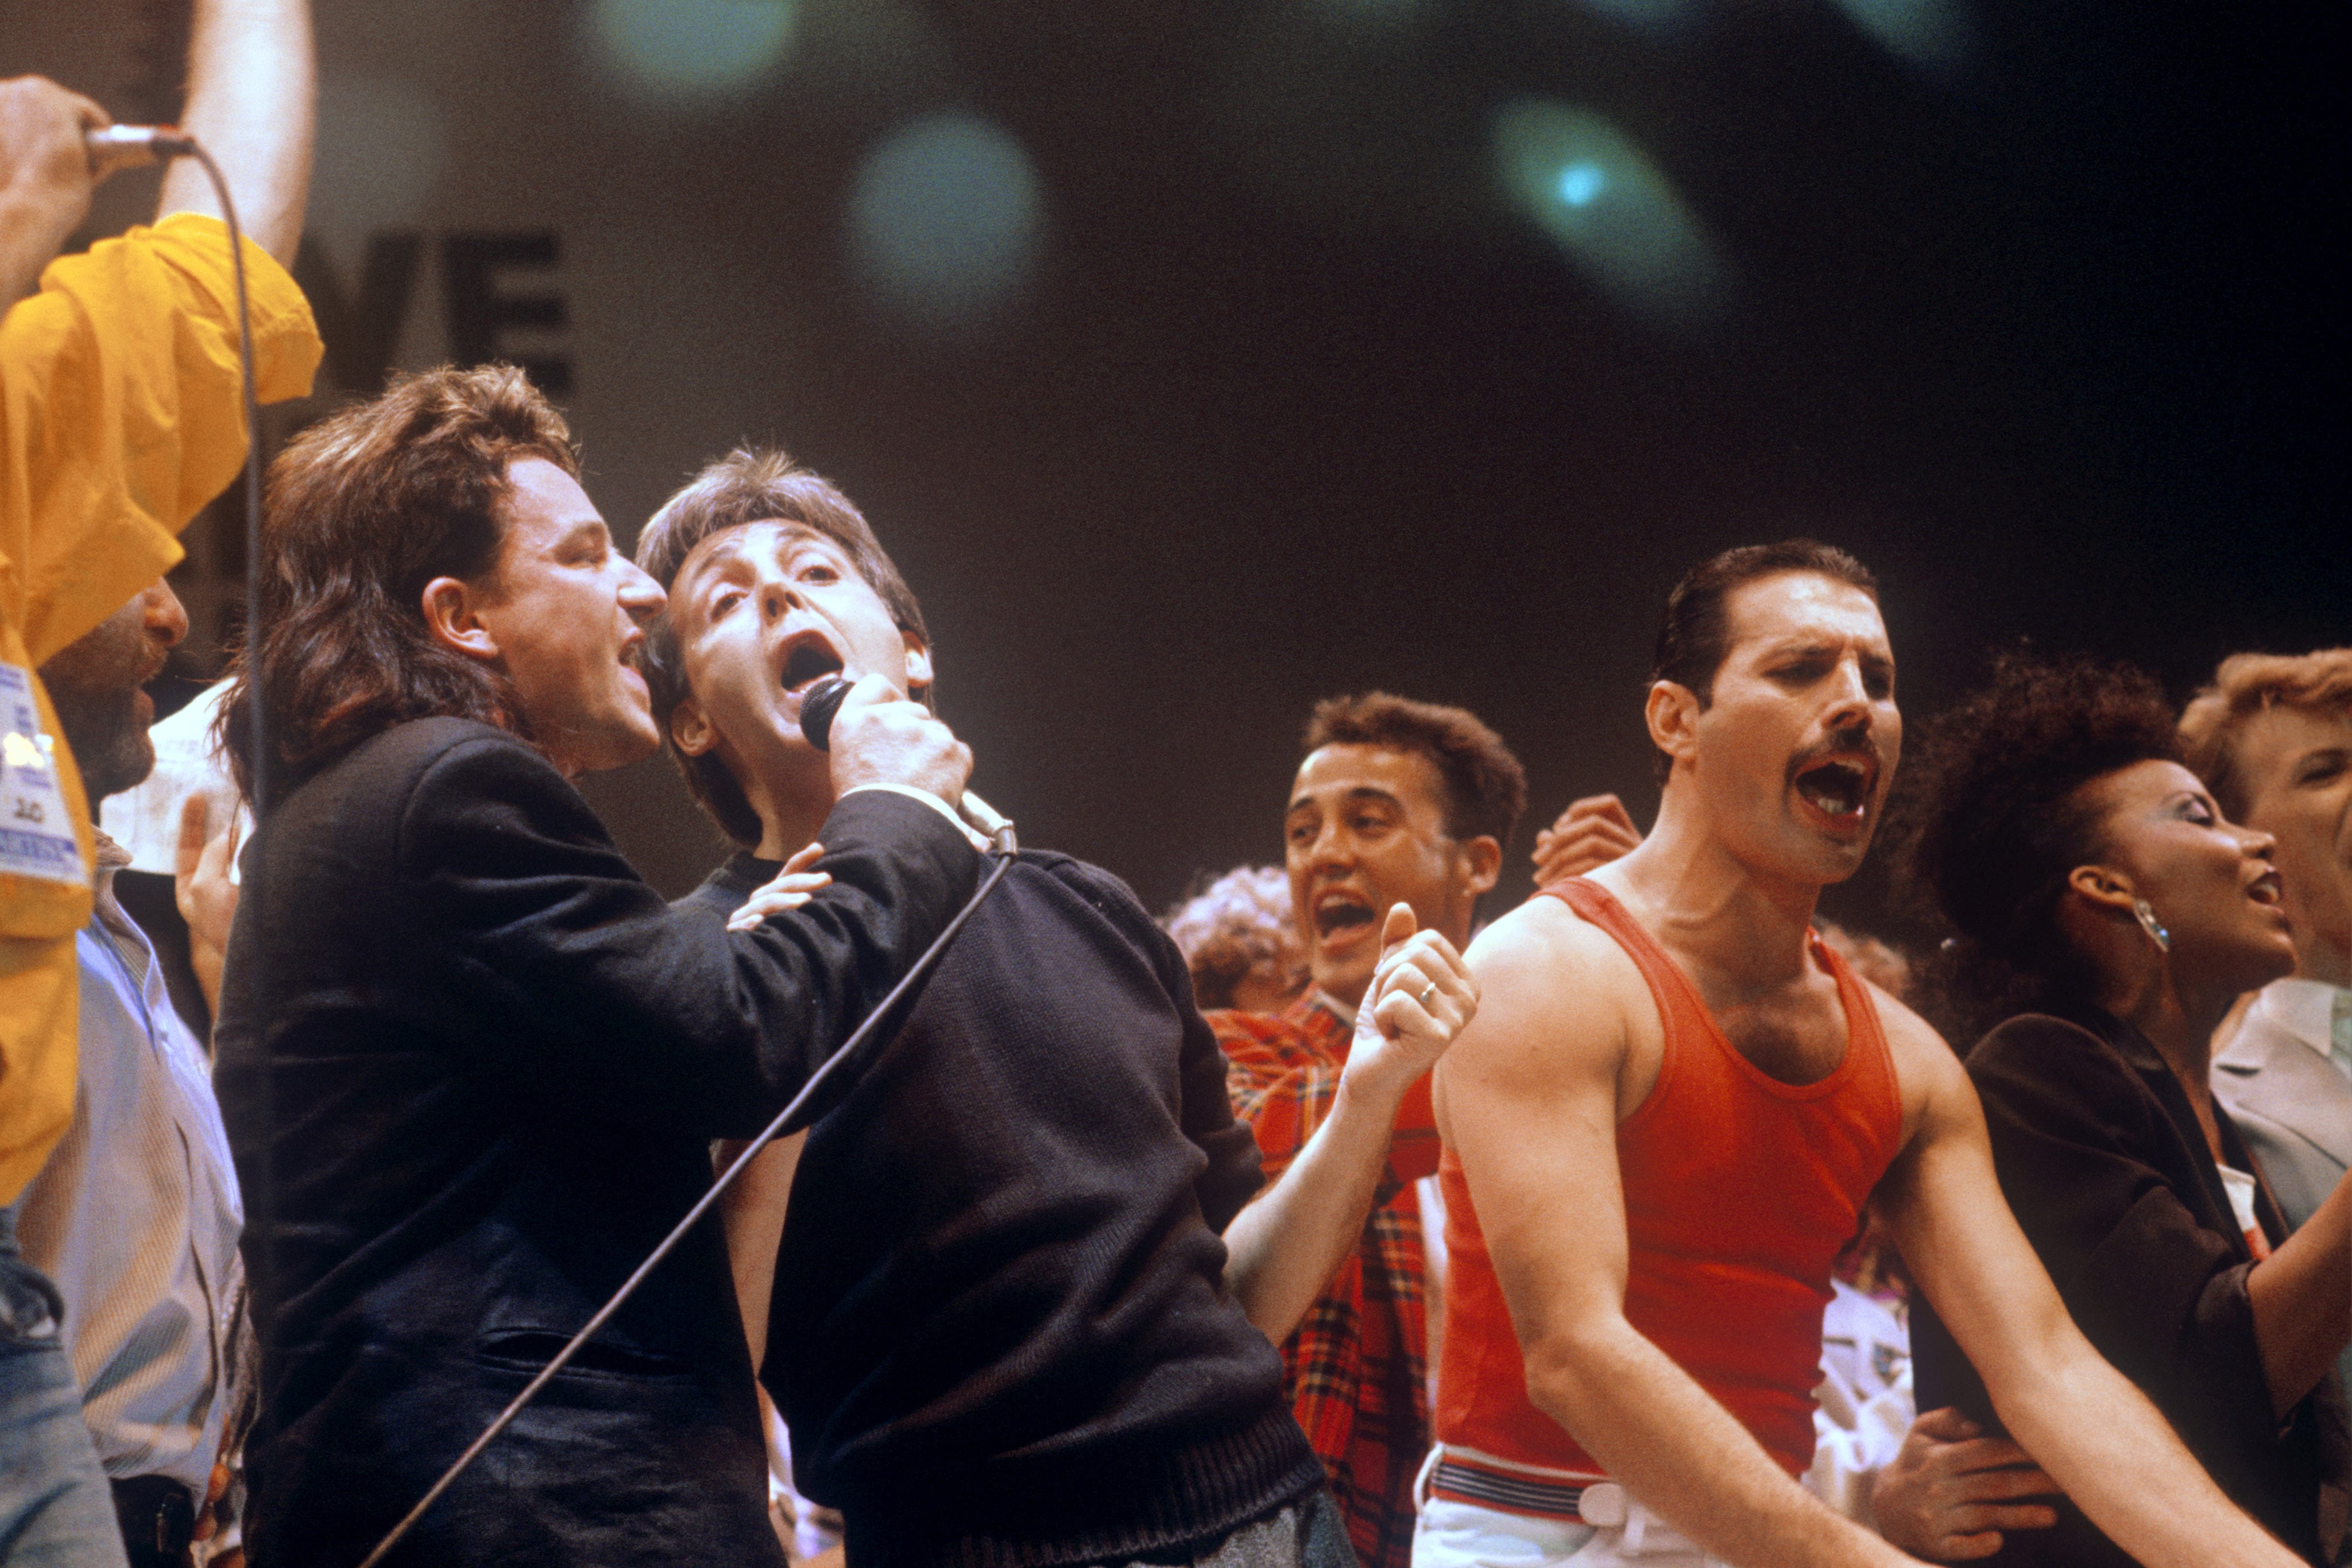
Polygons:
M1437 1067L1456 1150L1526 1366L1526 1394L1646 1507L1743 1566L1907 1563L1792 1481L1625 1321L1616 1126L1639 973L1538 898L1470 947L1479 1016ZM1573 1215L1573 1222L1569 1220Z

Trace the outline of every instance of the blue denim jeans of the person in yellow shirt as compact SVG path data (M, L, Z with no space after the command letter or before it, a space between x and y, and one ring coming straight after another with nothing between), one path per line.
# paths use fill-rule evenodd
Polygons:
M16 1251L16 1206L0 1208L0 1563L122 1568L122 1530L82 1392L56 1333L64 1307Z

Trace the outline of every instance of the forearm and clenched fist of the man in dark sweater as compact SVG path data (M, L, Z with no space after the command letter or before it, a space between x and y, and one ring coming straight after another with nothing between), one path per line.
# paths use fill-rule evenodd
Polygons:
M1225 1284L1275 1345L1291 1338L1364 1234L1404 1091L1477 1013L1470 966L1446 938L1414 931L1411 905L1388 912L1381 943L1385 952L1364 992L1331 1114L1282 1178L1225 1227Z

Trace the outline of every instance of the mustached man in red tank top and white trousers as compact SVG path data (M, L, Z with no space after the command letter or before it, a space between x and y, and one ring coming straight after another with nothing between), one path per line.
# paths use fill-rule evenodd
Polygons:
M1877 1201L2009 1432L2145 1563L2293 1563L2089 1347L1959 1058L1811 938L1900 755L1870 574L1729 550L1668 599L1658 825L1470 950L1437 1067L1446 1340L1416 1568L1905 1563L1799 1483L1830 1260ZM2030 1474L2030 1472L2027 1472Z

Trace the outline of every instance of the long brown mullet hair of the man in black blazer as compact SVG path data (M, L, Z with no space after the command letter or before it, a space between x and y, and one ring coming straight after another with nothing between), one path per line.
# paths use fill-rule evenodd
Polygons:
M266 806L407 719L463 717L529 736L506 677L437 644L421 604L433 578L475 581L499 564L517 458L579 477L562 414L513 364L395 376L278 454L261 607L233 651L216 729L247 799ZM266 780L252 776L247 745L254 625L275 771Z

